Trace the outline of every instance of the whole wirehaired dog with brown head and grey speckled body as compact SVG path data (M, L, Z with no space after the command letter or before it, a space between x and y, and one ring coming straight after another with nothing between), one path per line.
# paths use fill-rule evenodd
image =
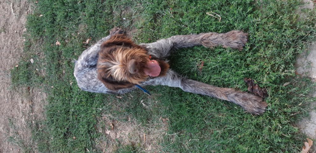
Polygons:
M74 75L84 91L123 94L136 89L135 85L168 85L183 91L207 95L240 105L254 115L262 114L267 103L259 96L220 88L187 79L169 68L167 57L176 49L203 45L231 47L242 50L247 33L200 33L172 36L150 44L134 44L121 28L83 51L75 64Z

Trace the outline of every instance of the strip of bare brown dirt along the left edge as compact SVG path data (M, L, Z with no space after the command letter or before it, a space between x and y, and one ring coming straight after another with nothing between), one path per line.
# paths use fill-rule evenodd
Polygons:
M27 0L0 0L0 153L36 152L28 125L43 118L46 94L38 89L9 90L10 69L22 56L22 34L31 12Z

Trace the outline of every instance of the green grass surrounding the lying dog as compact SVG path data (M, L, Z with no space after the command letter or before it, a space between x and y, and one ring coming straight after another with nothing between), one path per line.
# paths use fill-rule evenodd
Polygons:
M299 152L305 136L292 124L306 115L304 106L313 99L306 97L310 81L295 79L294 62L316 32L315 11L307 11L308 18L299 21L299 5L298 0L39 1L27 18L25 58L11 71L15 87L42 87L48 93L46 120L32 125L38 150L101 152L95 145L104 135L95 126L105 113L121 122L131 116L147 128L160 117L168 118L168 134L159 144L162 152ZM210 11L221 15L221 22L205 14ZM133 91L132 98L126 94L123 99L81 91L71 60L113 26L136 29L132 35L137 43L243 29L249 33L244 50L182 49L170 58L171 67L191 79L242 91L247 90L243 78L255 79L269 92L267 111L252 116L232 103L166 86L146 87L153 97ZM82 43L90 37L89 44ZM55 45L57 40L60 46ZM197 67L201 61L202 73ZM291 84L284 87L285 82ZM140 104L142 99L148 108ZM117 142L116 152L146 149Z

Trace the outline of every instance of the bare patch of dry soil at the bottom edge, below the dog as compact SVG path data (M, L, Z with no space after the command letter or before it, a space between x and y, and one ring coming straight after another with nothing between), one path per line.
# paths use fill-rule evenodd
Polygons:
M102 133L97 140L97 148L104 153L115 152L120 145L139 146L141 150L148 153L162 151L163 137L168 131L168 119L160 118L160 121L153 123L150 127L128 117L128 122L110 120L110 114L103 114L98 119L98 132Z

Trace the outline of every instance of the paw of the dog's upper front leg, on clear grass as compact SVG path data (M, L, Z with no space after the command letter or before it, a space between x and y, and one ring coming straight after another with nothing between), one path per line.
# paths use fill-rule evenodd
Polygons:
M242 50L245 47L245 44L248 41L248 33L245 33L240 30L233 30L230 32L225 33L228 42L223 45L223 47L227 48L234 48L238 50Z

